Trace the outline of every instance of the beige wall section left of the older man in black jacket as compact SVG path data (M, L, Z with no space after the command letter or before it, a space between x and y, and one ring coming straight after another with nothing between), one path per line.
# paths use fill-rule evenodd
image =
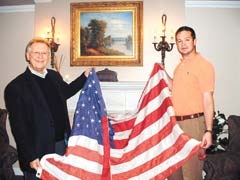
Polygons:
M5 108L5 86L26 68L24 51L34 34L34 12L0 13L0 24L0 108ZM10 144L15 147L8 121L7 132ZM14 166L18 167L18 162Z

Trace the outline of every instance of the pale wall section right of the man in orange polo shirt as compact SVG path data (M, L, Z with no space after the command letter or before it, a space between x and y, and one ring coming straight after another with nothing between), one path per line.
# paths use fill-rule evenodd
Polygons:
M236 7L236 6L235 6ZM198 50L215 66L215 107L240 114L240 7L186 8L186 24L197 33Z

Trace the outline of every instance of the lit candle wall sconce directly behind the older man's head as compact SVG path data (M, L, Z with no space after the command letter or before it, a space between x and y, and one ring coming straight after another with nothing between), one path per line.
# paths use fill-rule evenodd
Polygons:
M48 40L51 48L51 66L54 68L54 56L55 52L57 52L58 47L60 44L55 42L55 24L56 24L56 18L51 18L51 36L47 36L46 39ZM49 34L50 32L48 32Z

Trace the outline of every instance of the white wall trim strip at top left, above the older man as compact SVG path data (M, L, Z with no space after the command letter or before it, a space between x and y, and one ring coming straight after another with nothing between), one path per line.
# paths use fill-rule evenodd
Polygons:
M34 12L35 5L19 5L19 6L2 6L0 7L0 13L12 13L12 12Z

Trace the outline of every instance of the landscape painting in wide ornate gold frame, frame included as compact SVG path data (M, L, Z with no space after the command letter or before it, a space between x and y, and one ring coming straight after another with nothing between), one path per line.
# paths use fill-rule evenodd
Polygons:
M71 66L142 66L143 2L71 3Z

